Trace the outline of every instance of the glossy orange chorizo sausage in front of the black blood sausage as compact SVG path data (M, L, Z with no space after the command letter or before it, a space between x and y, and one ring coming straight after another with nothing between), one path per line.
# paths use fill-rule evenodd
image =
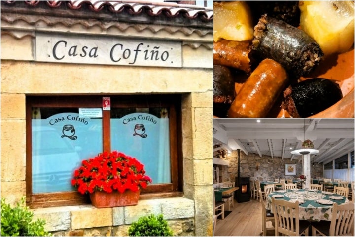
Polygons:
M264 59L251 73L228 110L229 118L265 118L288 81L286 70Z

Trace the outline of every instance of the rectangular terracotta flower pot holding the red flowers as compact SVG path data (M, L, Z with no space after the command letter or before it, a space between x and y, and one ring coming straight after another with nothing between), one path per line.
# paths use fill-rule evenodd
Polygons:
M97 208L134 206L137 205L139 196L140 191L133 192L131 190L126 190L122 194L118 191L113 191L112 193L95 191L90 194L90 200Z

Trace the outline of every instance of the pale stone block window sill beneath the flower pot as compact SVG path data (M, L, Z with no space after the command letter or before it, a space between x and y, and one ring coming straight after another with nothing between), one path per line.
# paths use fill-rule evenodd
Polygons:
M91 204L34 209L34 218L45 219L47 231L129 225L139 217L163 214L165 220L192 218L195 204L184 197L140 200L135 206L96 208Z

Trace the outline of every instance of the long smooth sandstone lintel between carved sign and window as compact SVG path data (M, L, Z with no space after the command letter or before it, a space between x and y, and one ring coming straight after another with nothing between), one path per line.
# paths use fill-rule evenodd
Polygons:
M1 61L1 90L7 93L188 93L212 88L211 69L77 65ZM24 80L31 78L31 80ZM82 83L85 78L86 83ZM100 80L98 80L100 78ZM127 80L129 78L129 80ZM55 81L55 83L53 83ZM102 83L105 81L105 83ZM207 82L206 82L207 81ZM211 81L211 82L210 82ZM67 86L67 85L71 86ZM210 108L211 110L211 108Z

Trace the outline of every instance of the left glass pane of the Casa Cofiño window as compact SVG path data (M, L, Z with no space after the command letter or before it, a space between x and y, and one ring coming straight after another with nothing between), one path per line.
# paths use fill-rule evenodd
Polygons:
M81 160L102 152L102 112L90 108L33 108L33 193L75 190L71 178ZM101 113L100 113L101 112Z

